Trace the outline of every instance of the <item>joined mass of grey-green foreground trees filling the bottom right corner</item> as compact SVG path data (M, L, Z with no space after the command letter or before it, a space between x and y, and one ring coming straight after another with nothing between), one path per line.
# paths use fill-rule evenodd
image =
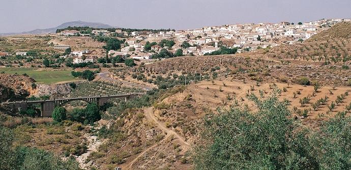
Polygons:
M204 120L195 169L351 169L345 112L312 129L292 119L276 96L249 98L258 111L232 107Z

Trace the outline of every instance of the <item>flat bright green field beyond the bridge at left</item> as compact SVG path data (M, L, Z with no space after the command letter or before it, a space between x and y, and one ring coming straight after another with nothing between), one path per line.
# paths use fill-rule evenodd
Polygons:
M0 68L0 72L24 74L34 78L38 83L54 84L62 81L76 81L71 75L72 70L44 70L38 68Z

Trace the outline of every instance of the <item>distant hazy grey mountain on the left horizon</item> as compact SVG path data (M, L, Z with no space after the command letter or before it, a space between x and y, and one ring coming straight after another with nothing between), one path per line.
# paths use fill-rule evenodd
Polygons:
M50 29L36 29L33 31L20 32L20 33L0 33L0 36L56 33L57 29L64 29L68 26L90 26L90 27L96 27L96 28L101 28L101 29L107 29L107 28L111 28L111 27L119 27L119 26L111 26L108 24L100 23L100 22L72 21L72 22L65 22L61 25L58 25L56 27L52 27Z

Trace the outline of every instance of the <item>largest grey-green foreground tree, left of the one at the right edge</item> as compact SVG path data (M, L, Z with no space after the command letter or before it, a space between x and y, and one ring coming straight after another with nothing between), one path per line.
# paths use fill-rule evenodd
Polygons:
M257 112L232 108L204 120L208 145L196 148L195 169L317 169L307 132L294 131L299 127L286 105L276 96L249 98Z

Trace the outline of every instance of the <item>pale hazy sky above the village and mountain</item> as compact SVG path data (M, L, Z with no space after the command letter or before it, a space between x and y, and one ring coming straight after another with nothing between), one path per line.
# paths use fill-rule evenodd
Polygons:
M351 18L350 0L0 0L0 33L68 21L149 29Z

